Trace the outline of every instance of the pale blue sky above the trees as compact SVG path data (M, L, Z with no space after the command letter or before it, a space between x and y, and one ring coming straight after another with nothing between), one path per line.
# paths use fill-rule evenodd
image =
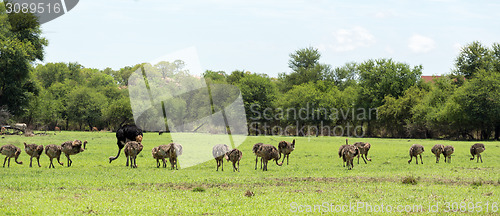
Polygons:
M393 58L449 73L460 47L500 42L498 1L81 0L42 25L44 62L119 69L196 48L202 69L290 72L309 46L320 62Z

